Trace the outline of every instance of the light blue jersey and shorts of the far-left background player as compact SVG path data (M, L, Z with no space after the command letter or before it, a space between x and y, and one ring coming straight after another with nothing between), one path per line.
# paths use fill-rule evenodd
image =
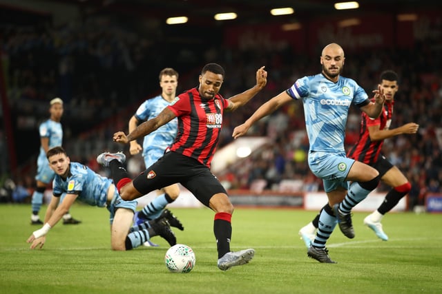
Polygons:
M63 129L61 123L57 123L54 120L48 119L44 123L41 123L39 133L40 138L49 138L49 149L61 146L63 143ZM37 176L35 176L35 179L44 182L45 184L49 184L54 176L55 173L49 167L46 152L43 147L40 146L40 153L37 158Z

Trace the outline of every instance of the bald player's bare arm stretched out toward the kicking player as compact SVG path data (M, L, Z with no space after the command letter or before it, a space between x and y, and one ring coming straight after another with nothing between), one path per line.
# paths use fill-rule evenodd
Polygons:
M287 92L281 92L277 96L274 96L269 101L261 105L255 113L253 113L242 125L238 125L233 129L233 138L238 138L247 133L249 128L258 120L274 112L276 109L291 101L292 98Z

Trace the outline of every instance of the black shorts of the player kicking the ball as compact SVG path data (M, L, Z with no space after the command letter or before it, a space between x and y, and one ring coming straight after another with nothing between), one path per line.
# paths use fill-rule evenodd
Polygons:
M209 200L216 193L227 194L209 167L198 160L169 151L133 179L133 187L143 195L179 182L193 196L209 207Z

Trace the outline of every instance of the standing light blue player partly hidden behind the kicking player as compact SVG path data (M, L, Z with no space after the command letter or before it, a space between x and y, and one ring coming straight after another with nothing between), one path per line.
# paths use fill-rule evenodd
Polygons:
M160 72L160 95L148 99L138 107L137 112L129 120L129 133L133 132L140 123L151 118L155 118L164 107L170 105L176 97L178 85L178 73L171 67L166 67ZM155 132L144 136L143 147L133 140L130 143L132 155L142 151L144 166L150 167L155 161L164 155L164 151L173 143L177 134L177 119L174 118L169 123L159 127ZM180 187L177 184L163 187L157 190L157 198L147 204L141 211L135 212L134 222L140 224L146 220L158 218L167 204L173 202L180 194ZM175 224L171 224L174 227ZM184 230L182 224L176 224L177 228ZM152 242L146 242L145 246L157 246Z

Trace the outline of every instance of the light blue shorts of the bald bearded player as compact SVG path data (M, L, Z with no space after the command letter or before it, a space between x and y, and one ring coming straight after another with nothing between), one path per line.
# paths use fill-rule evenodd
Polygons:
M343 187L348 190L347 176L354 164L353 159L347 158L345 153L309 152L309 167L318 178L323 179L325 192Z

